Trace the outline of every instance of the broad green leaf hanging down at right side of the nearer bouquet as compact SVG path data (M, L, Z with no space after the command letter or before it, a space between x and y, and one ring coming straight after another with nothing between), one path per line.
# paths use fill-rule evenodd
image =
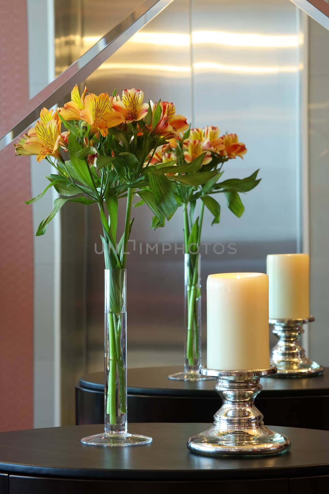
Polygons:
M162 173L149 173L148 177L157 206L164 216L170 219L177 209L170 181Z

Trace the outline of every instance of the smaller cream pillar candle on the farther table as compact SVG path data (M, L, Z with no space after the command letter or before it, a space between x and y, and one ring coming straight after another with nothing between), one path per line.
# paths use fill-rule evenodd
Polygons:
M267 256L270 319L303 319L310 316L310 256Z

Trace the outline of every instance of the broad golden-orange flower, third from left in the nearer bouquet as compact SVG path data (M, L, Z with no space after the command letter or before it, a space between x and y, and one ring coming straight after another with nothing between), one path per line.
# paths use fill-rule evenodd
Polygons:
M107 93L101 93L99 96L88 94L84 98L84 106L85 109L80 112L80 119L90 125L91 135L99 131L102 136L106 136L110 127L124 122L121 113L111 110Z

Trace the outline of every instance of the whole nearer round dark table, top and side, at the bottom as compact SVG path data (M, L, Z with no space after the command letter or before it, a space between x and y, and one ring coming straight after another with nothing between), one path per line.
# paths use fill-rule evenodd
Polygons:
M153 443L128 448L81 444L103 425L3 432L0 493L200 494L218 487L244 494L329 492L329 432L273 427L291 439L291 450L277 456L209 458L189 452L187 439L208 426L131 423L131 432L152 436Z

